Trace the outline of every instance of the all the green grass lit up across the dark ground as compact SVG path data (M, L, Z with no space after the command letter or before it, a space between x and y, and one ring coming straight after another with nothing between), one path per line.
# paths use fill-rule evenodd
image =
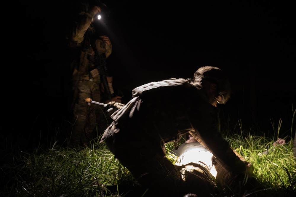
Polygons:
M255 177L265 184L268 196L292 196L296 190L295 132L291 129L284 145L273 146L277 137L281 137L280 125L281 120L277 128L273 125L273 136L252 135L252 129L244 130L241 121L236 127L238 131L230 126L223 131L230 146L253 163ZM124 197L128 196L129 188L139 186L105 143L98 143L100 137L91 147L70 149L60 145L57 140L60 131L54 129L55 134L46 146L39 143L31 149L22 147L13 135L2 136L1 197ZM180 144L184 141L183 136ZM166 145L167 157L172 162L176 160L169 153L173 145L173 142ZM217 194L220 196L226 197L223 191Z

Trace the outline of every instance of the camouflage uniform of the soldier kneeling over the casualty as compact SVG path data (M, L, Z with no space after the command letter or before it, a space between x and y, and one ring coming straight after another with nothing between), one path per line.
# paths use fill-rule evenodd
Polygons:
M137 87L132 93L133 99L112 114L114 121L100 142L106 142L140 184L161 192L165 185L179 181L164 144L189 131L202 139L225 169L237 173L245 169L220 134L217 108L201 94L200 84L168 79ZM182 193L179 188L173 186L163 195L176 196Z

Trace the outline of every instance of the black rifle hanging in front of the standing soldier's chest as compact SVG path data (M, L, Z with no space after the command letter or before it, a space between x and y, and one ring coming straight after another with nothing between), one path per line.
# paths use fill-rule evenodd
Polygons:
M100 48L97 50L97 44L100 46ZM106 67L106 55L105 55L105 49L106 49L106 43L103 40L97 39L96 41L92 41L92 47L95 52L95 65L97 66L96 69L90 71L93 77L100 74L100 79L103 82L103 86L105 89L104 94L107 95L108 99L111 100L112 95L114 94L112 84L108 83L107 80L107 67ZM102 52L102 55L98 53L98 51Z

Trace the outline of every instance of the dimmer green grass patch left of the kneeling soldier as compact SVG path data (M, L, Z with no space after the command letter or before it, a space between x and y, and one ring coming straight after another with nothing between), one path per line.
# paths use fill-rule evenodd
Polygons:
M41 152L41 153L38 153ZM105 196L105 185L134 181L104 145L92 148L53 146L20 151L1 166L0 196Z

